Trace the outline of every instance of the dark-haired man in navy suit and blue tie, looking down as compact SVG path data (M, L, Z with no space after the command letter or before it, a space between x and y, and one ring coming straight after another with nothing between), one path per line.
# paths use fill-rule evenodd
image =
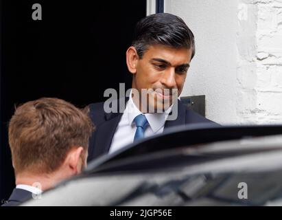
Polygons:
M111 105L100 102L89 106L96 126L89 142L89 160L171 126L215 124L178 100L194 54L193 33L179 17L152 14L137 23L126 52L132 74L129 97L113 100ZM113 107L117 111L110 112Z

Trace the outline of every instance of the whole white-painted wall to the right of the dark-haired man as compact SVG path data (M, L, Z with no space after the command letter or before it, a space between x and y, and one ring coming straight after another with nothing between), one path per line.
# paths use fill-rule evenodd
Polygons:
M165 0L196 36L183 96L221 124L282 122L282 0Z

